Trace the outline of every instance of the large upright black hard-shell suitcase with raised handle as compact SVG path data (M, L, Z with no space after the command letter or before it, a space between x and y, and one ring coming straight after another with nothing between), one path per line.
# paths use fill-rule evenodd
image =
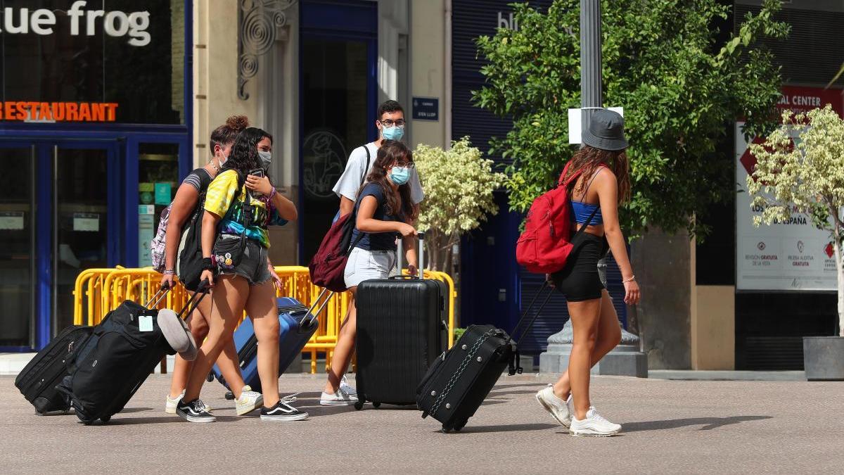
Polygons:
M419 262L424 262L424 246L424 234L419 232ZM400 258L398 268L402 268ZM415 404L416 386L445 349L444 286L402 276L363 281L355 304L358 402L354 407L362 408L365 401L375 407L382 402Z

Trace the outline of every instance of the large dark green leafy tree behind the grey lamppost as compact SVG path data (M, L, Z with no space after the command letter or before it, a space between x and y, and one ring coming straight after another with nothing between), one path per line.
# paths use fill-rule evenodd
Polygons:
M513 121L492 146L512 159L506 188L514 210L527 210L549 189L576 150L568 144L567 110L581 101L579 5L556 0L543 14L517 4L519 30L478 41L489 63L474 101ZM630 139L626 229L705 234L701 219L690 216L735 193L733 156L718 154L718 141L738 117L746 117L748 134L776 124L779 68L755 40L787 35L787 25L771 19L779 2L766 0L718 48L713 25L729 8L717 0L602 2L604 104L624 107Z

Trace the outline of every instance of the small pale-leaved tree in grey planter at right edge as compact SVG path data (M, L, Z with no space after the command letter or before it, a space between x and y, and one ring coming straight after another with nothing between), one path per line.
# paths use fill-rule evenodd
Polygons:
M792 139L798 132L798 139ZM812 216L828 230L835 254L838 336L803 338L803 363L809 380L844 380L844 120L830 106L782 114L782 127L764 144L750 145L756 157L748 177L752 204L763 210L754 224L787 221L793 213Z

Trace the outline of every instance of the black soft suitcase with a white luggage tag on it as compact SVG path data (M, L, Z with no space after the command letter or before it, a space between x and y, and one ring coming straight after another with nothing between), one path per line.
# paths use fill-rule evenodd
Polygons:
M167 290L162 289L151 299L155 301L152 307ZM186 315L188 308L196 308L207 293L204 286L194 293L178 318ZM89 342L71 362L71 373L58 386L85 425L98 419L107 423L121 412L161 358L176 353L157 320L160 312L169 311L127 300L95 326Z

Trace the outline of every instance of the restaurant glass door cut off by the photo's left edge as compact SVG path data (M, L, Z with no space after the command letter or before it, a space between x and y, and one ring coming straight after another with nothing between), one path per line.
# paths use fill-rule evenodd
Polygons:
M35 347L35 153L0 144L0 348Z

